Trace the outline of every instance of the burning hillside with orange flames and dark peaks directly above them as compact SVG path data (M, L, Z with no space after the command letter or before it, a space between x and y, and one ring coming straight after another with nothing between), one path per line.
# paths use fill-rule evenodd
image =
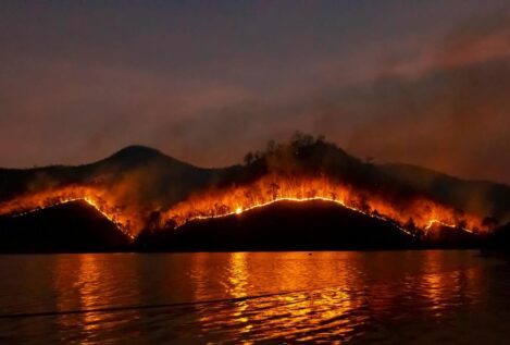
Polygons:
M132 238L144 229L179 229L195 220L224 218L282 200L329 201L390 221L408 234L433 231L435 224L485 232L498 221L490 213L459 208L462 204L445 199L445 193L438 197L432 189L418 190L383 174L377 165L321 137L297 134L288 144L270 143L265 151L248 153L244 165L223 170L177 164L154 150L150 157L145 152L137 148L133 159L129 150L123 150L110 161L87 165L94 172L89 177L20 193L0 202L0 214L21 217L85 200ZM140 156L142 163L137 163Z

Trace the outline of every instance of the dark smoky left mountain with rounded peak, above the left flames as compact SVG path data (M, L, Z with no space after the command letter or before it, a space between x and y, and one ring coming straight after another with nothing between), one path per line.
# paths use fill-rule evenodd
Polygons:
M115 189L128 183L123 186L126 198L141 204L158 199L167 205L214 183L223 172L222 169L192 167L152 148L129 146L84 165L0 169L0 201L67 185L100 185Z

